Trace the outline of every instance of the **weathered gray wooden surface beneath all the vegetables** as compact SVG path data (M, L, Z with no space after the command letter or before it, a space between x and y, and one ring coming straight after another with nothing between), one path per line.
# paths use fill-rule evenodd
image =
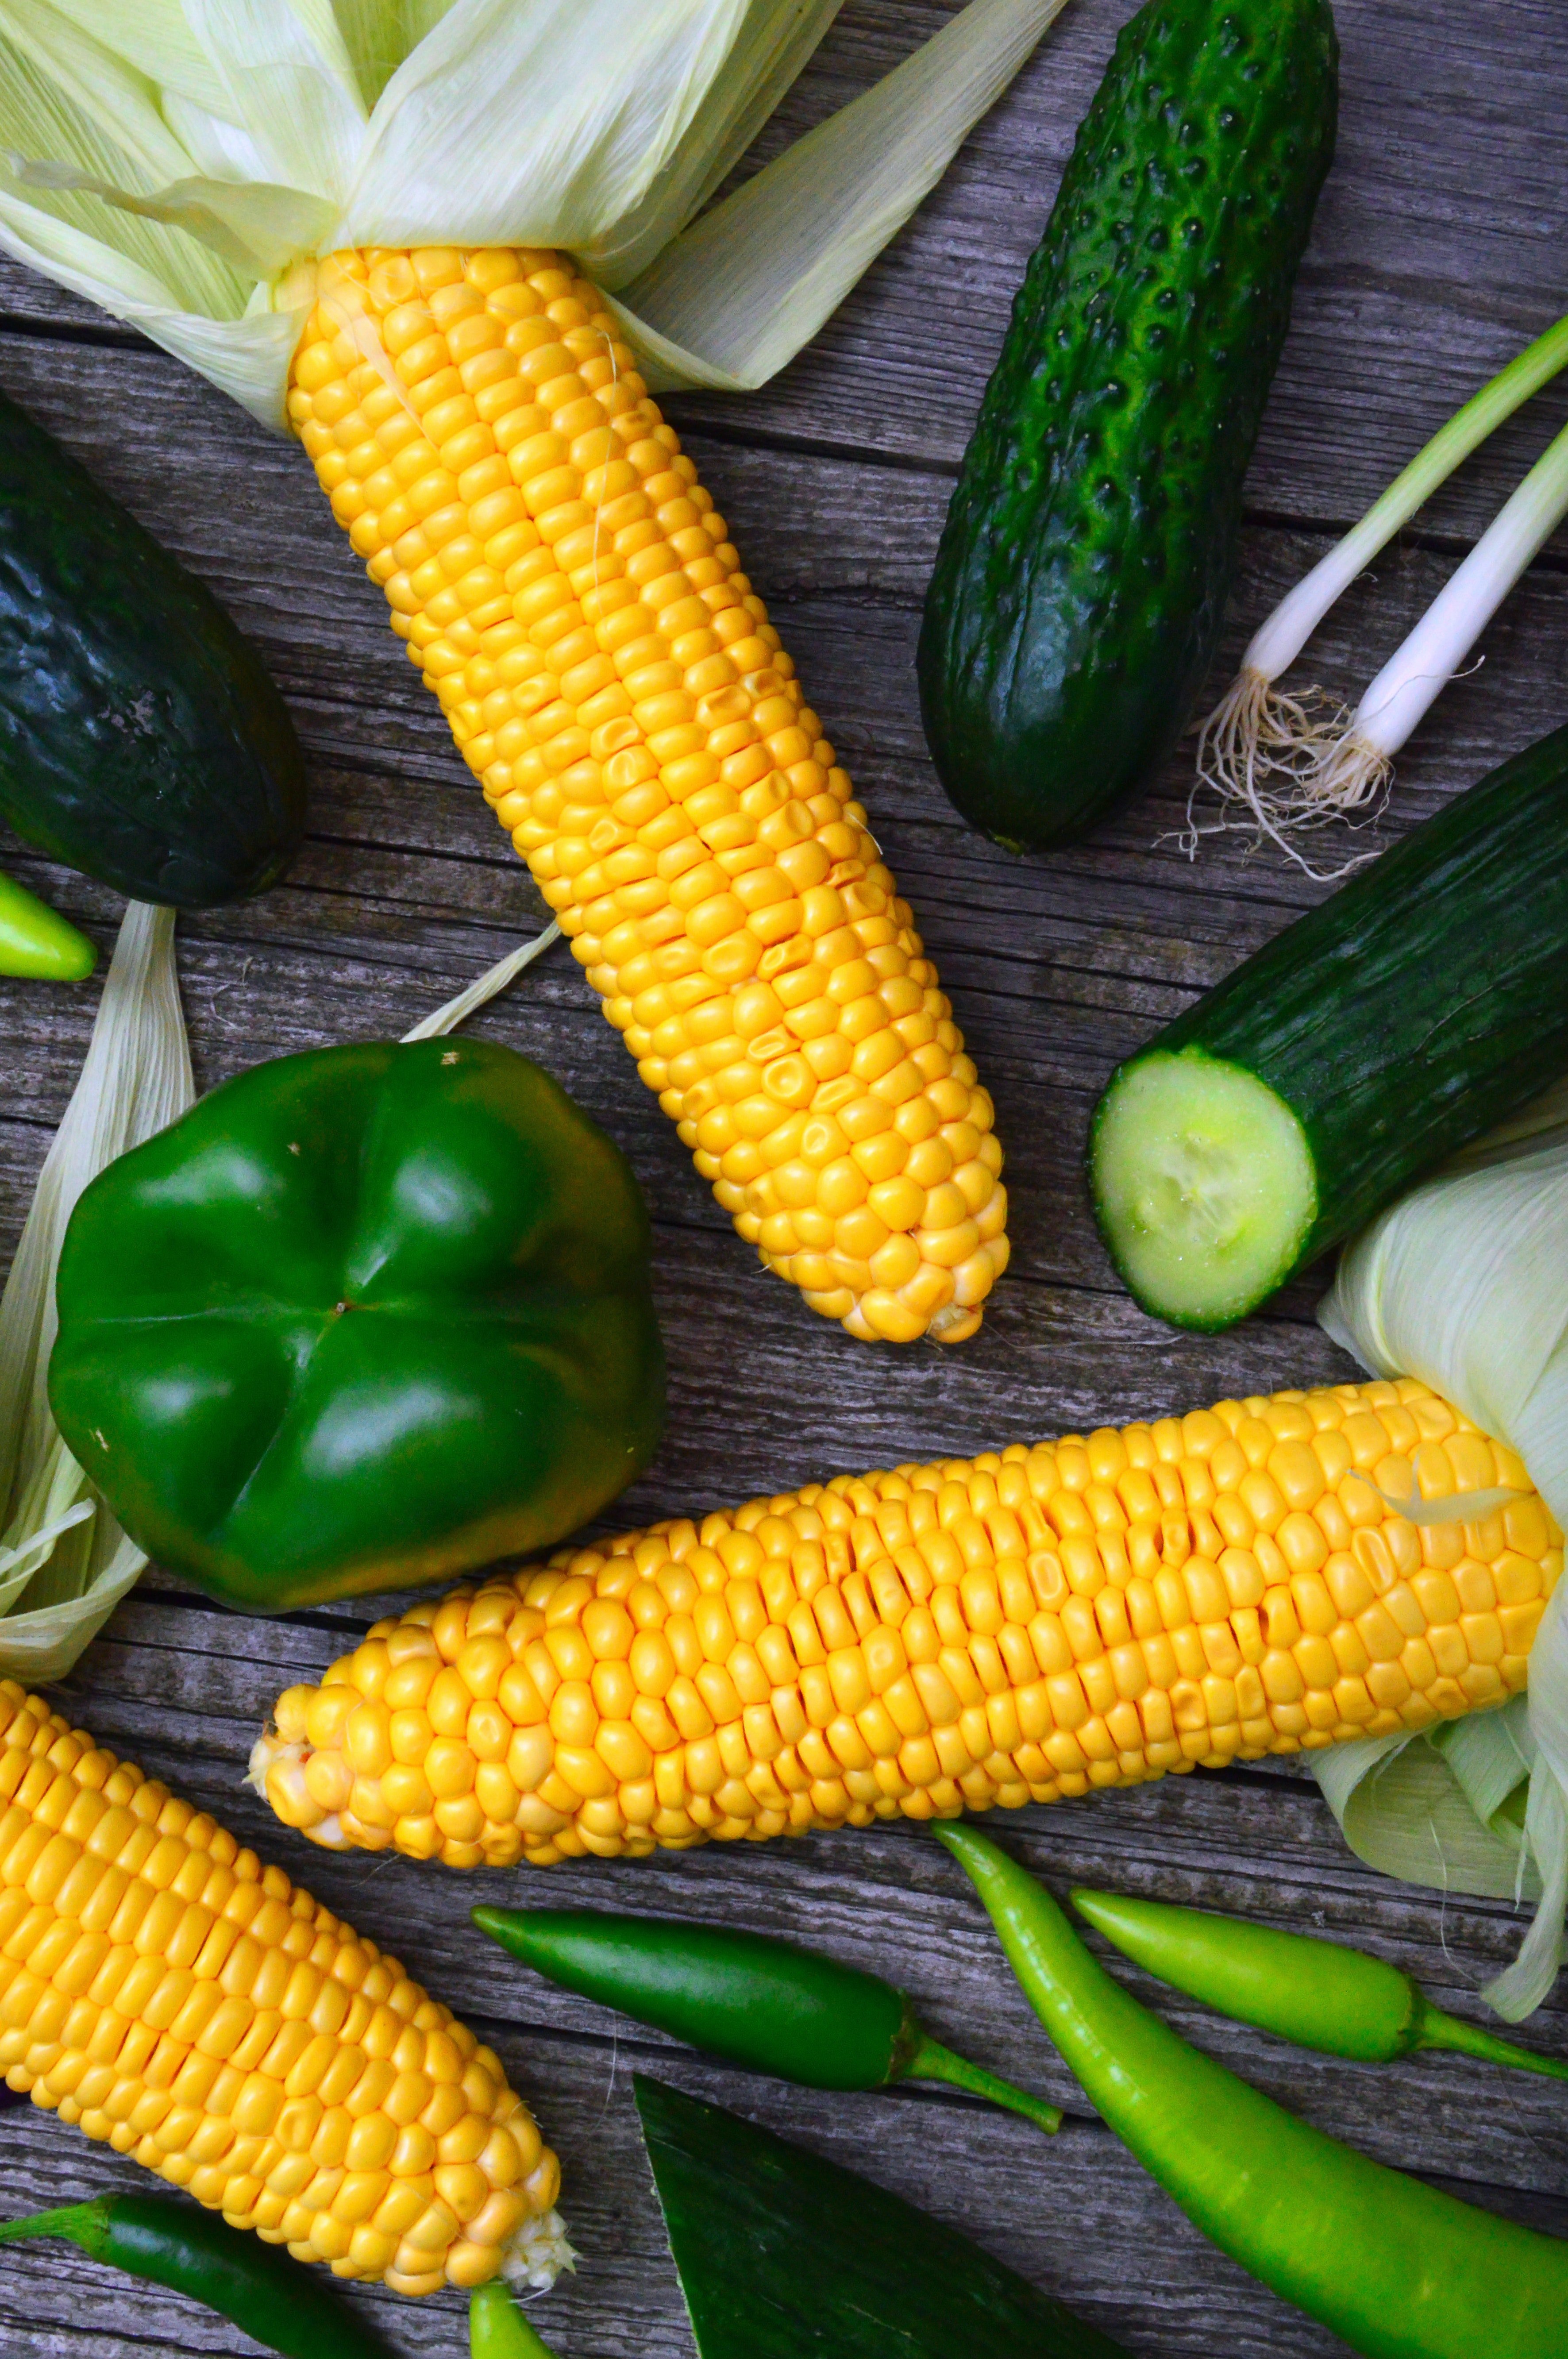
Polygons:
M903 54L946 0L849 0L771 151ZM967 835L924 760L913 684L920 594L950 479L1073 127L1127 0L1070 0L1016 90L813 351L747 401L672 415L856 774L872 823L997 1099L1014 1267L976 1342L894 1354L849 1342L766 1279L696 1180L597 1012L552 953L481 1029L547 1064L630 1151L653 1205L672 1364L670 1439L625 1522L828 1472L1184 1408L1346 1373L1311 1323L1313 1283L1219 1340L1141 1319L1115 1288L1078 1161L1111 1062L1313 899L1269 859L1160 842L1181 764L1052 861ZM1339 163L1250 486L1224 668L1273 597L1443 415L1561 309L1568 14L1561 0L1339 0ZM434 698L387 630L292 443L174 361L24 271L0 271L0 385L226 599L281 679L314 767L311 840L266 899L182 920L203 1085L283 1050L403 1031L535 925L538 901L457 762ZM1365 684L1561 422L1551 392L1389 550L1313 649L1330 686ZM1568 552L1549 550L1415 738L1394 830L1568 717ZM14 842L0 861L108 944L118 906ZM0 1260L9 1255L87 1040L97 986L0 984ZM1139 2354L1299 2354L1339 2345L1257 2291L1186 2227L1094 2121L1033 2026L957 1871L917 1828L585 1861L552 1899L795 1930L917 1993L931 2029L1068 2109L1054 2144L934 2090L811 2097L660 2048L552 1993L467 1930L519 1875L448 1875L314 1852L241 1788L255 1724L318 1673L368 1609L248 1623L151 1571L80 1661L66 1708L219 1812L332 1908L394 1946L493 2041L566 2163L580 2274L538 2307L564 2359L686 2359L632 2066L712 2092L964 2227ZM1320 1927L1417 1972L1445 2005L1476 1989L1518 1920L1384 1882L1344 1849L1299 1774L1188 1776L1021 1812L1000 1833L1049 1878L1101 1880ZM1162 2005L1167 2005L1162 2000ZM1568 2232L1563 2090L1460 2059L1391 2071L1309 2059L1198 2010L1167 2012L1323 2128L1471 2201ZM1530 2038L1568 2050L1556 1998ZM0 2114L5 2210L141 2173L31 2109ZM358 2293L403 2352L455 2359L462 2305ZM252 2350L172 2295L71 2248L0 2262L0 2359ZM964 2354L955 2354L964 2359ZM1483 2354L1476 2354L1483 2359Z

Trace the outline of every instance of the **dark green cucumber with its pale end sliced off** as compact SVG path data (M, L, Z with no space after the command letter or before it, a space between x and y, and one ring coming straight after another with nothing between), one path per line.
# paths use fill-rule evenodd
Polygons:
M1568 729L1297 918L1111 1076L1127 1288L1224 1328L1568 1071Z

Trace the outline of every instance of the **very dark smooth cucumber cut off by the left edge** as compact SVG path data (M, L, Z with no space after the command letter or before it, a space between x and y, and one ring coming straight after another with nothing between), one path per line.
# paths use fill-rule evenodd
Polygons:
M217 599L0 396L0 819L134 901L271 885L304 757Z

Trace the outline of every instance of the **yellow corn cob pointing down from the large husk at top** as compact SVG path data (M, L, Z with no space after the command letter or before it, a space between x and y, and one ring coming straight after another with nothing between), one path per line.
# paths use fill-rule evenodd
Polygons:
M851 1335L962 1342L1007 1267L990 1099L613 328L556 255L335 255L290 418L740 1236Z

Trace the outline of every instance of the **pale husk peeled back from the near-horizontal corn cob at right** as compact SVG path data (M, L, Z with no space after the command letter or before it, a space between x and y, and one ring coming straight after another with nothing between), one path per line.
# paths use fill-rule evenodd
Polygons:
M1365 1368L1419 1375L1518 1451L1568 1526L1568 1085L1346 1246L1318 1316ZM1313 1769L1375 1868L1537 1901L1483 1993L1511 2022L1537 2008L1568 1901L1568 1581L1530 1649L1528 1701L1427 1739L1337 1746Z

